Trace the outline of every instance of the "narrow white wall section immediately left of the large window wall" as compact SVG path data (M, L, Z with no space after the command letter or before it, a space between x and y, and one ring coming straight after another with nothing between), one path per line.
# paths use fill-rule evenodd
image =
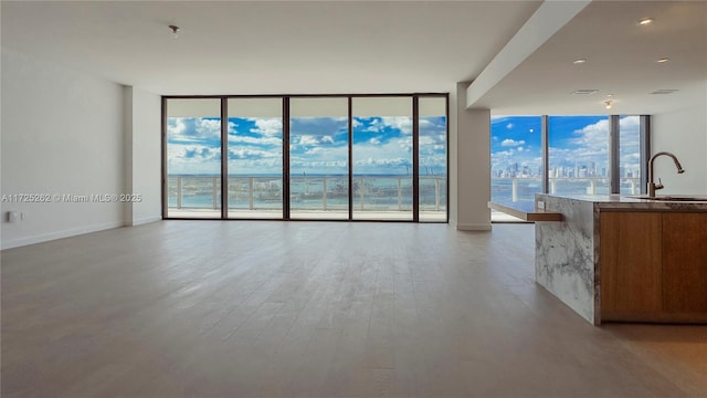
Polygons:
M161 220L161 98L125 87L125 192L139 201L125 203L125 224Z

